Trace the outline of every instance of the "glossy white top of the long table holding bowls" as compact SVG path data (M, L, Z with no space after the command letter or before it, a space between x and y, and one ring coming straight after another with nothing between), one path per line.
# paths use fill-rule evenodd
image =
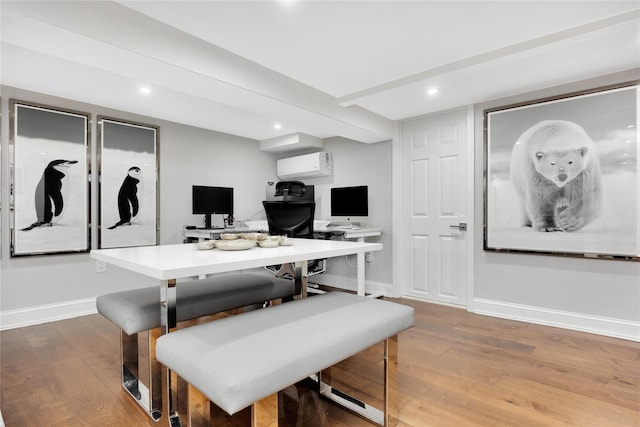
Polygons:
M225 273L286 262L379 251L381 243L290 239L291 246L241 251L198 250L193 244L94 249L91 257L160 280Z

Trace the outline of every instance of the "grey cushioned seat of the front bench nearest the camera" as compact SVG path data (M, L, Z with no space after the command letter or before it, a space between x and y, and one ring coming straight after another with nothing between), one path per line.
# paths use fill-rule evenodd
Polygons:
M163 335L156 358L234 414L413 325L412 307L329 292Z

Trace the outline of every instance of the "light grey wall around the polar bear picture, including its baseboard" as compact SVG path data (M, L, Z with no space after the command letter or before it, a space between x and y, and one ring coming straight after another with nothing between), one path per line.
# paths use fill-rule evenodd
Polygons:
M474 310L640 340L640 263L483 250L483 111L631 81L638 70L477 105Z

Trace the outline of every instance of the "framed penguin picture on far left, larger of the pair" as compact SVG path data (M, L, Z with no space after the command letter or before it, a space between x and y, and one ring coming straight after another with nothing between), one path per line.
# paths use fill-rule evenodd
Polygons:
M10 100L11 256L86 252L89 116Z

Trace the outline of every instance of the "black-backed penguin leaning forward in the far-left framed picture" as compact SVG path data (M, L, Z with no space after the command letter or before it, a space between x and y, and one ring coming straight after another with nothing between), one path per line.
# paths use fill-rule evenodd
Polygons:
M29 231L36 227L51 226L51 221L59 217L64 209L64 196L68 185L66 170L78 163L77 160L57 159L49 162L36 186L36 222L22 231Z

